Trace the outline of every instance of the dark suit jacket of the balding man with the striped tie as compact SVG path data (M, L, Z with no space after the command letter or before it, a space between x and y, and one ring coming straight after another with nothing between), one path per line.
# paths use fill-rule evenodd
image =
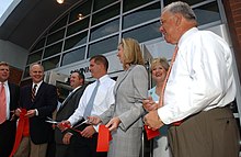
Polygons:
M50 141L51 124L45 122L51 117L53 112L57 106L57 90L56 87L42 82L37 90L34 102L31 101L32 83L25 86L20 92L20 105L23 109L37 109L38 115L30 117L30 136L34 144L44 144Z

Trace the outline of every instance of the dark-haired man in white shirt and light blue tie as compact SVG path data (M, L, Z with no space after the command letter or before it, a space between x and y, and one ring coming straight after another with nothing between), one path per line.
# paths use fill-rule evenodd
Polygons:
M115 86L115 81L111 79L107 75L108 61L102 55L96 55L90 58L90 71L93 78L97 79L93 83L89 85L83 96L79 101L79 105L74 113L62 123L71 125L74 127L74 124L78 122L84 121L84 111L90 98L92 97L92 92L94 91L97 81L100 81L100 86L96 90L96 96L93 101L93 108L91 111L91 115L100 115L104 111L106 111L111 104L114 103L114 93L113 89ZM76 157L78 155L85 157L105 157L106 153L96 153L96 143L97 143L97 125L81 125L81 135L71 136L64 138L64 143L70 145L68 157Z

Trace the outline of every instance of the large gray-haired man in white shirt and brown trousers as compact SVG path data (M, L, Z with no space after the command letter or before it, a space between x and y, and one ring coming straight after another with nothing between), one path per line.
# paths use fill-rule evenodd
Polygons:
M184 2L167 5L160 21L164 40L179 51L163 106L149 112L146 124L152 130L170 124L174 157L238 157L239 131L229 109L236 97L229 45L209 31L198 31L195 14ZM152 104L144 101L146 108Z

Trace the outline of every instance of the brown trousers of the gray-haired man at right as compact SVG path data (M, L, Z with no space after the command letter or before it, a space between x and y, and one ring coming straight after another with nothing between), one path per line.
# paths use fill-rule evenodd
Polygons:
M199 112L169 130L173 157L239 157L239 139L228 106Z

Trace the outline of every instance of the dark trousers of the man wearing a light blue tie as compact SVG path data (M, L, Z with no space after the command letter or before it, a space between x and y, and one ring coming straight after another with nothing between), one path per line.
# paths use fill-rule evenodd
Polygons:
M81 128L83 130L83 128ZM91 138L82 137L79 133L73 134L68 148L68 157L106 157L107 153L96 153L97 133Z

